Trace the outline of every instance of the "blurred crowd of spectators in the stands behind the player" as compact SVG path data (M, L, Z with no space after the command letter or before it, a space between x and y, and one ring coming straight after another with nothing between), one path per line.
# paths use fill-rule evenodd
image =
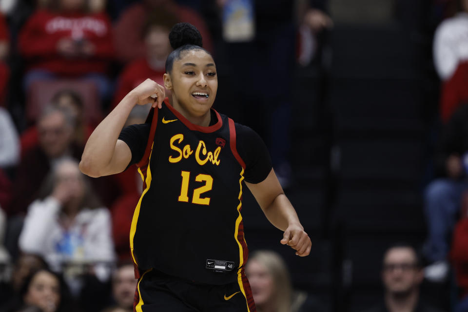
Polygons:
M438 311L419 299L419 285L425 277L443 283L451 269L456 311L468 311L468 0L452 2L458 13L440 23L433 42L442 93L436 177L424 195L428 237L421 254L399 244L383 255L383 303L370 311ZM146 78L162 84L177 22L195 25L214 55L222 80L215 108L255 125L288 187L288 77L313 61L318 36L332 29L326 4L2 0L0 312L133 311L129 231L141 178L132 166L90 179L78 162L93 129L130 90ZM281 81L272 87L257 73ZM127 124L143 123L148 111L137 106ZM319 311L292 288L278 254L253 253L246 272L259 311Z

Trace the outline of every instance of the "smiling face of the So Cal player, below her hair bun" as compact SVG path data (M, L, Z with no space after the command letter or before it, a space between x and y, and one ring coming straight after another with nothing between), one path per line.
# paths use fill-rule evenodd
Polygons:
M185 117L204 117L210 114L218 89L215 61L203 50L184 51L172 72L164 75L164 84L177 111Z

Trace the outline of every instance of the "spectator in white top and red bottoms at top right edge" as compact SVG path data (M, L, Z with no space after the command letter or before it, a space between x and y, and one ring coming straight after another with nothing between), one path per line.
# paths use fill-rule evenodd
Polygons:
M468 66L459 68L468 61L468 0L456 1L459 13L437 27L433 46L435 69L442 80L441 117L444 122L459 104L468 100L463 90L468 84Z

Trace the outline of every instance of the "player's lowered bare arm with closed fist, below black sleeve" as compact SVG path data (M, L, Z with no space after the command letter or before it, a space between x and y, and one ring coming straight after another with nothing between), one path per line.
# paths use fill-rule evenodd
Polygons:
M275 227L284 231L281 244L291 246L299 256L310 254L311 239L304 231L304 227L301 225L288 197L284 195L283 188L279 184L273 169L262 182L256 184L245 182L245 184L254 195L268 220Z

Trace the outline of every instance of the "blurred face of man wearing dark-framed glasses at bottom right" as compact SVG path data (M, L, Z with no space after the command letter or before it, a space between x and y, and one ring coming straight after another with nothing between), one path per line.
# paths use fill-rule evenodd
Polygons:
M419 286L424 275L416 266L416 255L410 248L392 248L384 259L382 272L387 292L404 294Z

